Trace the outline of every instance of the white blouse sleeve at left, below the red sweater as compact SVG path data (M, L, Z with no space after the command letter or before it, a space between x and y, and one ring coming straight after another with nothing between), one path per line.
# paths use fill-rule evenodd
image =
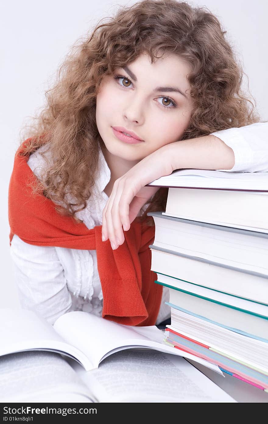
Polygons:
M55 248L30 245L14 234L11 257L22 308L33 310L54 324L72 306Z

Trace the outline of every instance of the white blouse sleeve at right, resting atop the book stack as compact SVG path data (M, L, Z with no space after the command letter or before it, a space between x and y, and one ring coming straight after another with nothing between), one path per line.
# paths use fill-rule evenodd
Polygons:
M240 128L214 132L235 154L229 172L268 172L268 122L258 122Z

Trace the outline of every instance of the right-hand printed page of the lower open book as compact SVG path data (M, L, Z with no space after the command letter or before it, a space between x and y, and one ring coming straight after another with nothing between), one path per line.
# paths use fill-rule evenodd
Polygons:
M72 366L99 402L236 402L182 357L159 351L117 352L88 372Z

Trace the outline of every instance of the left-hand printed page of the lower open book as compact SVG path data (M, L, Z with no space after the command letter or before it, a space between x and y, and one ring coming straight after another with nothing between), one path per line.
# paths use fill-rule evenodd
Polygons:
M0 402L92 402L88 387L54 352L0 357Z

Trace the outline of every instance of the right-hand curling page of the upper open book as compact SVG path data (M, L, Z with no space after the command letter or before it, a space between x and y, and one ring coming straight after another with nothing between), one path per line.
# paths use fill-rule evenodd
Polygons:
M149 347L197 360L222 374L218 366L165 344L163 332L156 326L127 326L87 312L74 311L61 315L55 322L54 328L67 343L82 351L93 364L90 367L82 363L86 371L98 368L105 357L117 351L133 347Z

